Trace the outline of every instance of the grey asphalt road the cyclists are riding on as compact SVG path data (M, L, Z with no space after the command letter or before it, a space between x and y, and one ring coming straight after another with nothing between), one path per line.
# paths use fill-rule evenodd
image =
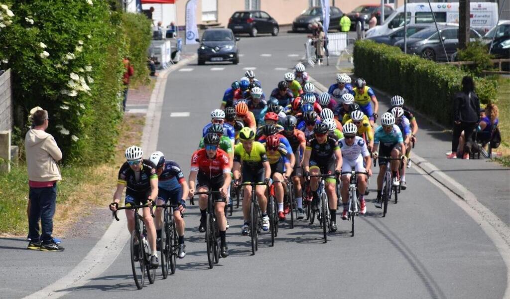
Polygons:
M303 42L302 35L242 38L237 66L198 66L195 61L171 73L158 149L180 163L187 176L201 129L219 107L225 88L243 76L244 68L256 67L256 77L269 93L301 58ZM189 116L171 117L172 112ZM162 280L159 271L154 285L136 291L129 246L124 246L112 266L64 298L501 298L507 270L479 223L416 169L406 178L409 189L400 193L398 204L390 204L386 218L372 204L372 180L368 212L358 217L356 235L350 237L350 223L337 216L339 231L329 234L326 244L316 223L299 221L294 229L284 223L275 246L263 234L259 251L251 256L249 239L240 234L241 211L236 210L227 231L231 256L214 269L208 269L203 234L196 229L198 207L189 206L188 254L177 260L175 275Z

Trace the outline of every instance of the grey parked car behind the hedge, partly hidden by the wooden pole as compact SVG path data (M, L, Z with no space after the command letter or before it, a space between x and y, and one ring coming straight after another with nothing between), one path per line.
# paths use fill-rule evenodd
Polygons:
M428 29L411 35L407 39L407 54L416 54L433 61L446 61L446 57L450 57L457 51L458 26L439 26L439 34L440 35L438 35L436 27L431 26ZM439 36L443 39L447 56L445 56ZM480 34L476 32L476 30L470 29L469 38L471 41L475 41L480 37ZM404 51L403 40L397 41L395 46L400 47L400 49Z

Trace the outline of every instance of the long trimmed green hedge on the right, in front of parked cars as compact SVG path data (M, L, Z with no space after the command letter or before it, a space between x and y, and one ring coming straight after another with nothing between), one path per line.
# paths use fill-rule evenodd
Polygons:
M452 96L461 90L468 73L418 56L405 55L398 47L370 40L354 44L354 74L369 85L404 97L405 102L445 126L451 126ZM482 103L496 98L497 82L475 78Z

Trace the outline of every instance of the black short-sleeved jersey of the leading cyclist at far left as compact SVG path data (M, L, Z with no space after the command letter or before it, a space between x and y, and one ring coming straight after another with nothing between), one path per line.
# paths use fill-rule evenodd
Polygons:
M149 160L143 159L138 173L131 169L127 161L124 162L119 169L117 182L126 186L126 193L143 193L150 190L151 179L158 179L156 165Z

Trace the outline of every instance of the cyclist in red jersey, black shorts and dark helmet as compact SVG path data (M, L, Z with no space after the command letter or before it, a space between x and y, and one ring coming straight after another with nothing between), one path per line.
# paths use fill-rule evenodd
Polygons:
M231 182L231 168L228 155L218 148L220 137L217 134L209 133L203 138L206 148L202 148L191 156L191 168L189 176L189 197L193 197L195 188L198 192L219 191L221 194L212 194L214 212L218 220L218 230L221 238L221 256L228 256L226 246L226 218L225 218L225 198L228 195L228 187ZM198 180L198 184L196 183ZM208 198L206 194L201 194L198 200L200 208L200 226L198 230L203 233L206 231L206 217Z

